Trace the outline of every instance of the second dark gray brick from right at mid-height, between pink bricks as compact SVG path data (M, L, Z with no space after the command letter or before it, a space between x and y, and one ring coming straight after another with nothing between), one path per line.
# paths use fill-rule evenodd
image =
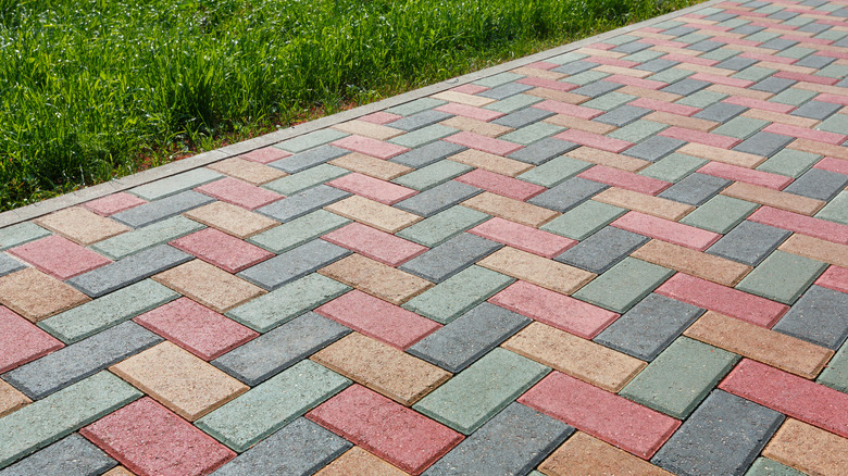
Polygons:
M565 250L557 261L577 266L595 274L604 273L645 245L648 238L614 226L606 226Z

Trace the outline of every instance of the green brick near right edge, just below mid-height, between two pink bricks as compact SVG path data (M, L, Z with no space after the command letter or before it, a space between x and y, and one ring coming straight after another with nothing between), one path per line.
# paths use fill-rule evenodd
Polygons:
M736 289L791 304L826 267L820 261L775 250Z

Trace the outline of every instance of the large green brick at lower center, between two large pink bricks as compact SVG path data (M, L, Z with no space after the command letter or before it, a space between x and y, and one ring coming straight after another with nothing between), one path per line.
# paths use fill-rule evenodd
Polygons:
M412 408L470 435L548 372L545 365L496 348Z

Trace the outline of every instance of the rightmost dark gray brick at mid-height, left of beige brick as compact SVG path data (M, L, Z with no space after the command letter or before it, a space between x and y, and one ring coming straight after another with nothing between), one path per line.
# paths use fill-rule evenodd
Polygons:
M707 252L757 266L789 235L791 231L746 220L720 238Z

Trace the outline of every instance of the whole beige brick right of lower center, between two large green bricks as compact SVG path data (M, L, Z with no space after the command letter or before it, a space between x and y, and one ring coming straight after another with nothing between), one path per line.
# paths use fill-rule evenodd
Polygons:
M501 346L612 392L624 388L648 365L539 322L532 323Z

